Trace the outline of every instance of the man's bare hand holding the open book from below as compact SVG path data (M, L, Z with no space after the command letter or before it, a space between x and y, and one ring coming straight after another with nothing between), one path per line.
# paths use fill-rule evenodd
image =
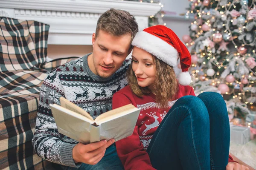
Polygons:
M102 140L90 144L78 143L72 150L74 161L85 164L97 164L105 154L106 148L115 142L114 139L109 141Z

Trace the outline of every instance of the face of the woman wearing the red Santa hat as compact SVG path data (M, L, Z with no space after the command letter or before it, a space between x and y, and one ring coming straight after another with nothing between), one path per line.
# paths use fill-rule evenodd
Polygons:
M153 56L147 51L134 46L132 52L132 70L137 77L140 87L147 87L154 91L153 83L156 79L156 64Z

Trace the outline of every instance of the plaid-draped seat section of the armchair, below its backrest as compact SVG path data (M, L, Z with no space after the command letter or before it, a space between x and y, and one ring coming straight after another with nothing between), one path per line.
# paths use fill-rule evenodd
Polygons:
M3 169L51 168L49 161L36 155L31 142L40 88L46 75L46 71L0 73L0 167Z

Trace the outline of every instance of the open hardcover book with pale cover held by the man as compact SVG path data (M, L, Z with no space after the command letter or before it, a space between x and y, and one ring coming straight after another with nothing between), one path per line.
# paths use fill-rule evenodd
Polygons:
M140 113L140 109L129 104L93 120L89 113L64 97L60 97L60 102L61 106L50 104L59 133L84 144L131 136Z

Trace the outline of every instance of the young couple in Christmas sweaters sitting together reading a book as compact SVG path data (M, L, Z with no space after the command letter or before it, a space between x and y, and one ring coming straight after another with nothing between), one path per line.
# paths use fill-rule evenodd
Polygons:
M191 57L172 30L153 26L138 32L131 14L112 8L99 18L92 44L93 53L56 68L44 80L32 140L39 156L64 170L247 168L228 154L230 129L222 96L208 92L195 97L188 86ZM132 49L131 62L125 58ZM182 73L177 80L173 67L178 58ZM94 118L132 103L141 108L134 133L116 143L82 144L68 138L58 133L49 108L60 104L60 96Z

